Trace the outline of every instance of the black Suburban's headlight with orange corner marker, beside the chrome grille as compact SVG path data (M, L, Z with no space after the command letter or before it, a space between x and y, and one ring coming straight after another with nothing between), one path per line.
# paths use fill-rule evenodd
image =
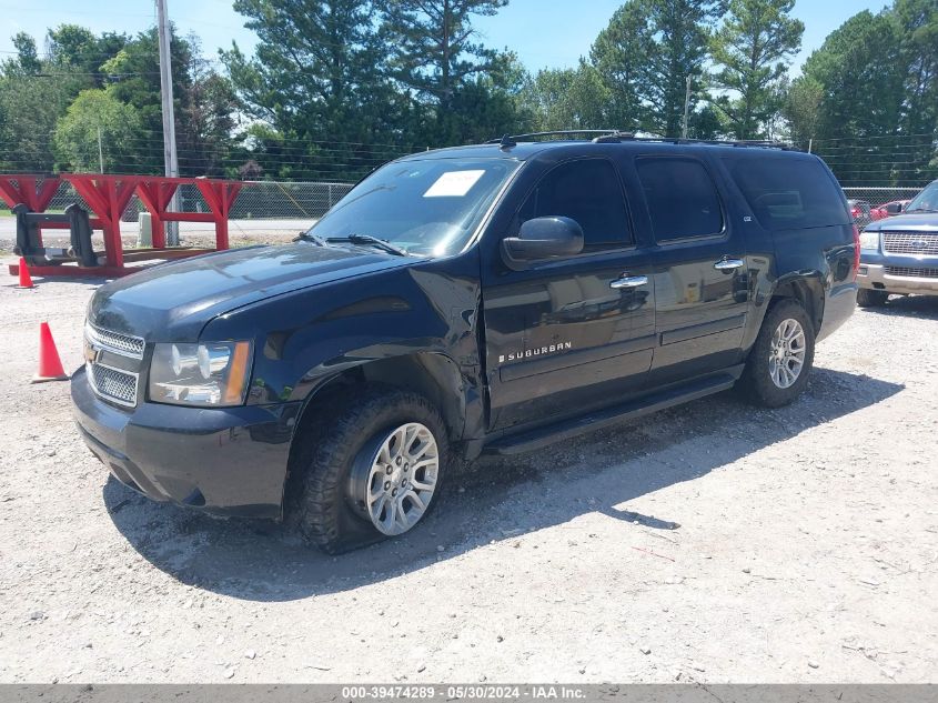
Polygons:
M251 375L251 342L157 344L150 400L178 405L240 405Z

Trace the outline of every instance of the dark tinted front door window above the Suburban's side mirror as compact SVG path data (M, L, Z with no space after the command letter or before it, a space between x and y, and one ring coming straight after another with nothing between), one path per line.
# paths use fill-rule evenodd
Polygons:
M583 228L584 251L632 244L622 182L606 159L579 159L549 171L517 213L517 225L544 217L571 218Z

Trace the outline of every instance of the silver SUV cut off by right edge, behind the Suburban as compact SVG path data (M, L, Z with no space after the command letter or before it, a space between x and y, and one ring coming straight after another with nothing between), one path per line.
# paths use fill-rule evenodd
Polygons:
M890 294L938 294L938 181L900 215L867 225L860 234L857 302L882 305Z

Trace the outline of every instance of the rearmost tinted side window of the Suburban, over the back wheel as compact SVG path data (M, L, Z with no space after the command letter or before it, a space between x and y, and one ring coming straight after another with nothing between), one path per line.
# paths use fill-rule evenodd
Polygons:
M849 224L837 184L815 159L725 159L753 214L767 230Z

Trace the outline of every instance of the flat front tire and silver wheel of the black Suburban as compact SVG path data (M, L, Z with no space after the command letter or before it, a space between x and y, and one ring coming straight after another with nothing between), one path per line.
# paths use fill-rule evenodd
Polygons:
M297 495L289 519L329 554L416 526L438 502L450 458L446 426L424 396L384 386L356 390L306 425L291 464ZM410 454L402 452L407 446L414 448Z

